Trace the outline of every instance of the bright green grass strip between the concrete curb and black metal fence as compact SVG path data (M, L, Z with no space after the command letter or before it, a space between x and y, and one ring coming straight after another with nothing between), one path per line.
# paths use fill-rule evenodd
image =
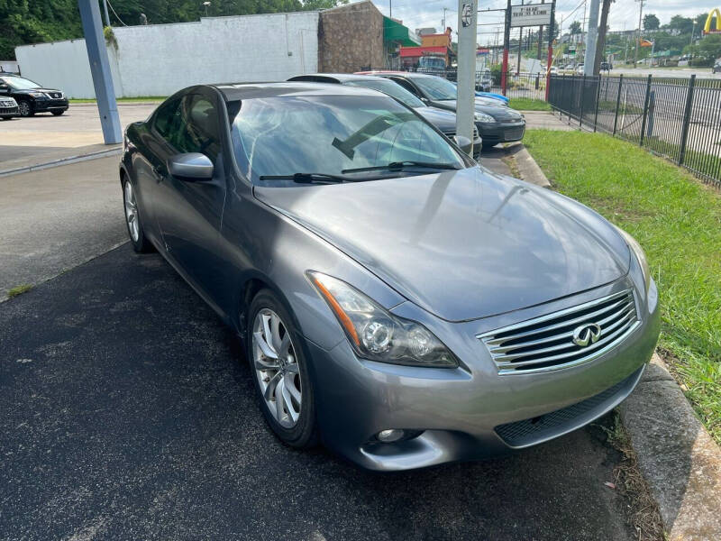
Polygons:
M524 142L555 188L643 246L661 296L660 350L721 444L721 194L601 133L529 130Z

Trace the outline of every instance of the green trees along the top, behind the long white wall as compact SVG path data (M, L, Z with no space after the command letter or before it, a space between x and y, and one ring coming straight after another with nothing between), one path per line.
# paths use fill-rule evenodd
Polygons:
M211 0L210 16L287 13L326 9L348 0ZM102 9L102 1L99 3ZM201 0L111 0L113 26L187 23L205 16ZM69 40L83 35L78 0L0 0L0 60L14 60L14 48L25 43Z

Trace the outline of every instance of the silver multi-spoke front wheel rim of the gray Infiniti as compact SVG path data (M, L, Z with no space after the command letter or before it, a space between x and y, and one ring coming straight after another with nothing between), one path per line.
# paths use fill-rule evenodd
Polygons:
M253 367L263 401L284 428L296 426L300 417L301 381L296 350L287 327L269 308L253 321Z

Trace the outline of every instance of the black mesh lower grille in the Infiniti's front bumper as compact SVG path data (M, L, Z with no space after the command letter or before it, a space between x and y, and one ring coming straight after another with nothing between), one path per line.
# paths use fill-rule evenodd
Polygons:
M641 370L643 370L643 368L634 371L633 374L625 380L619 381L613 387L609 387L607 390L599 392L589 399L572 404L567 408L557 409L551 413L546 413L545 415L531 419L524 419L523 421L498 425L494 430L496 434L511 447L533 445L551 437L560 436L577 425L577 419L579 417L593 412L594 409L601 408L606 402L611 402L607 404L607 406L610 406L613 403L612 400L615 399L616 395L622 390L626 390L625 394L628 394L628 392L630 392L630 389L628 389L629 386L635 383ZM602 409L598 411L598 414L601 412Z

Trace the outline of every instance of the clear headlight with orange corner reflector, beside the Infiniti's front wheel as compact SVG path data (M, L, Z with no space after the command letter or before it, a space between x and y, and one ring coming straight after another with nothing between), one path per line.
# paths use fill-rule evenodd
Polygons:
M315 271L307 271L306 276L328 303L358 356L414 366L458 366L453 353L421 324L390 314L341 280Z

